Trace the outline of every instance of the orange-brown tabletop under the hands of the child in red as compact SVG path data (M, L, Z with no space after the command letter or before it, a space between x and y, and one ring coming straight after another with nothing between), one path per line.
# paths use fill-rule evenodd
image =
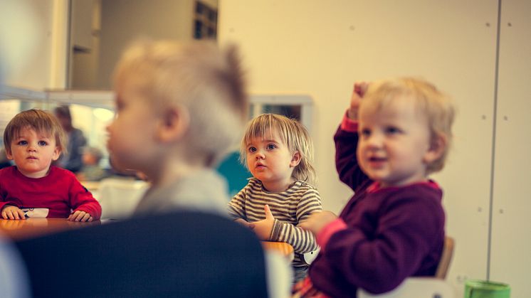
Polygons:
M0 234L21 240L75 228L100 225L100 220L80 223L66 218L27 218L25 220L0 219Z

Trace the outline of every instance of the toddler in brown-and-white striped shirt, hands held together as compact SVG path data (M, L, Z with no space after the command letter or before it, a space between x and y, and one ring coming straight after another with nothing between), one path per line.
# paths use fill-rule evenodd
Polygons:
M303 254L317 250L317 244L312 233L298 225L322 211L321 198L312 186L310 136L294 119L259 115L247 126L240 154L253 178L228 203L228 212L253 228L258 238L292 245L295 281L302 280L308 268Z

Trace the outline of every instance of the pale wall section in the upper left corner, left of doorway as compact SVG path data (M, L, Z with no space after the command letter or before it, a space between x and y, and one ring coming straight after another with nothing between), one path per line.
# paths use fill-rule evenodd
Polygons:
M4 83L65 87L67 13L66 0L0 0Z

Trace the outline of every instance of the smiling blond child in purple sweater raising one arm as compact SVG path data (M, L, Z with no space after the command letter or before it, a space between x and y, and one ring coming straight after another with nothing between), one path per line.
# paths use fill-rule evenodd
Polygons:
M435 275L445 215L429 174L443 169L453 117L448 98L424 80L354 85L335 134L337 172L354 196L339 218L325 211L302 224L321 251L295 287L299 296L382 293Z

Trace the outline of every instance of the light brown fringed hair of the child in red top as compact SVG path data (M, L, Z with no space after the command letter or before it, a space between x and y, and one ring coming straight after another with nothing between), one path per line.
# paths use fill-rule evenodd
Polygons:
M56 139L56 147L66 152L66 137L61 124L50 112L31 109L15 115L4 130L4 148L11 154L11 142L20 137L22 129L31 128L36 132L46 132Z

